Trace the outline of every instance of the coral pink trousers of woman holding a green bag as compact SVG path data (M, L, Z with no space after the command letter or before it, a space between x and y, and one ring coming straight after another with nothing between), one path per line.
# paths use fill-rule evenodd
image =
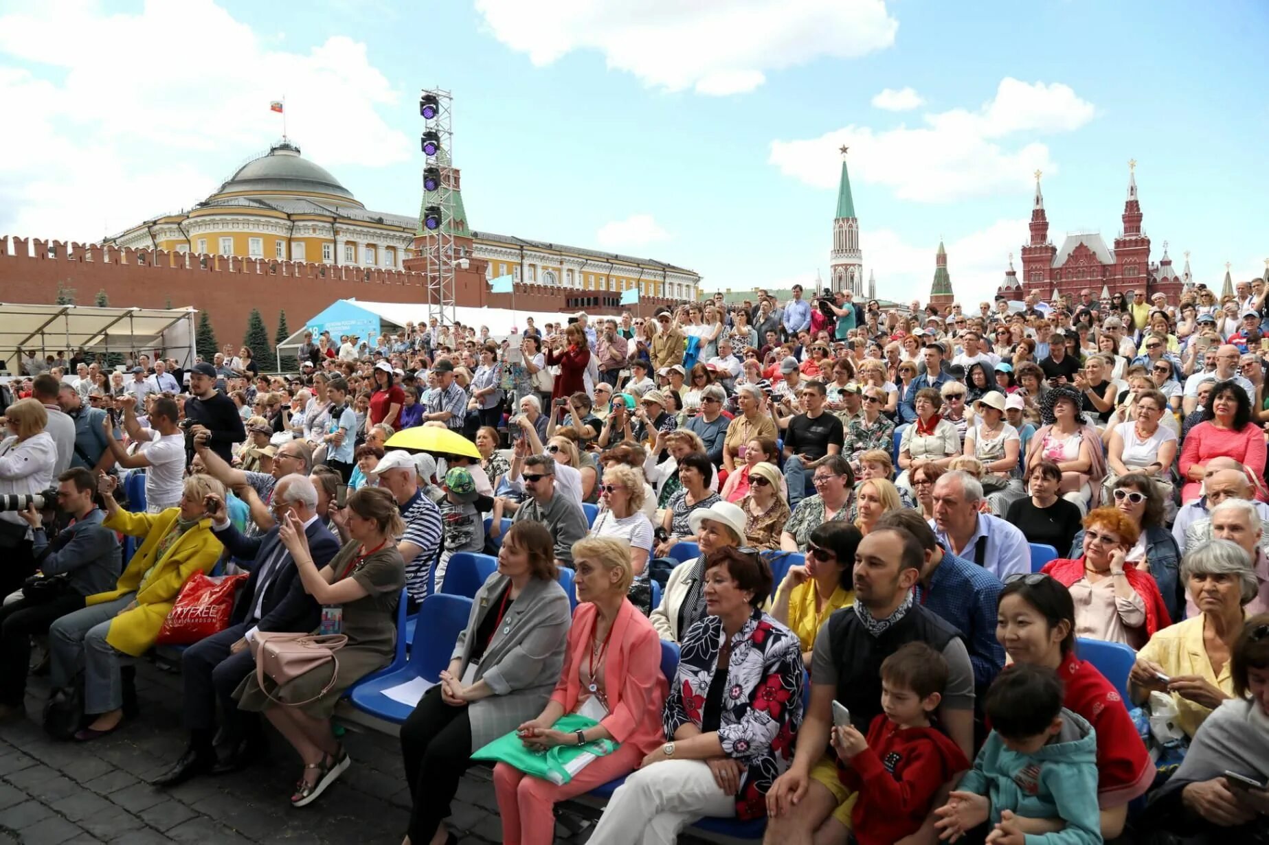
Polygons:
M623 745L588 765L562 787L499 763L494 766L494 790L503 816L503 845L551 845L555 841L556 802L628 775L643 756L637 747Z

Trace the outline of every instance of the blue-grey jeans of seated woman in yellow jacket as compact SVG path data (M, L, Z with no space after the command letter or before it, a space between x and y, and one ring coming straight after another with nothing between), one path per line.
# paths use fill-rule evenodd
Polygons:
M56 688L70 686L82 667L84 712L89 716L123 707L119 652L105 637L110 620L135 598L136 593L128 593L69 613L48 628L49 680Z

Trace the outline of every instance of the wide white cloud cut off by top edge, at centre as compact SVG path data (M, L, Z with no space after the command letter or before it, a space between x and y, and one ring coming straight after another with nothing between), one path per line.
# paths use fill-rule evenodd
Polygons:
M652 88L737 94L765 71L854 58L895 42L884 0L477 0L495 38L537 66L595 49Z

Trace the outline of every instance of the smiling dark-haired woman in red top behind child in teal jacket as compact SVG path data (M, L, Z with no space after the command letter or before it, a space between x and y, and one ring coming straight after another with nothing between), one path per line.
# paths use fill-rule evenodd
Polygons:
M1082 716L1096 731L1101 836L1108 841L1119 836L1128 802L1146 793L1155 780L1155 766L1119 693L1075 655L1071 594L1042 572L1019 573L1005 582L997 608L996 639L1009 658L1056 670L1065 690L1062 707Z

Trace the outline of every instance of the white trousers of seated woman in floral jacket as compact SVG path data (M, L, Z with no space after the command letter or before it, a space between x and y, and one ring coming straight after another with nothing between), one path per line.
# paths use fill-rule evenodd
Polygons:
M735 797L723 794L703 760L665 760L636 770L617 788L590 841L674 845L679 831L698 818L735 815Z

